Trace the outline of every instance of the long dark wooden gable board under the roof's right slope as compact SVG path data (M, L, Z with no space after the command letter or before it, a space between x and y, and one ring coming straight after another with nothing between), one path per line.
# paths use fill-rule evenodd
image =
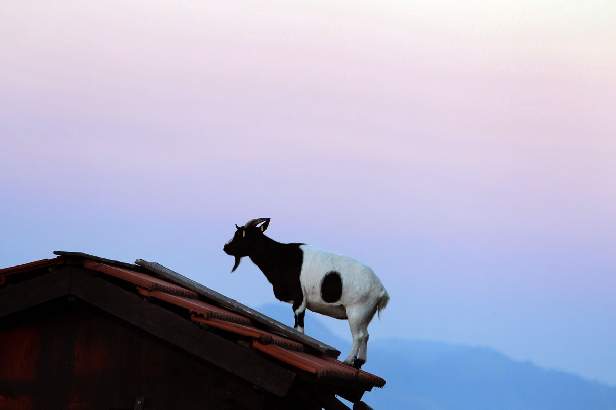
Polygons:
M293 372L251 350L216 336L171 310L144 301L137 294L85 271L73 275L71 293L275 395L285 395L294 380Z

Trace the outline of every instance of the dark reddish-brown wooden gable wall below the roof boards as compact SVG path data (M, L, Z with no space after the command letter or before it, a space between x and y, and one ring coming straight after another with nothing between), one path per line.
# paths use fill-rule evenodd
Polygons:
M79 301L0 320L0 409L262 409L267 393Z

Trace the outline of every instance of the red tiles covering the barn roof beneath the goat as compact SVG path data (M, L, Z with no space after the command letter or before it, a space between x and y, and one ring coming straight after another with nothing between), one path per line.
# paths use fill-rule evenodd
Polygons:
M212 302L208 303L200 300L204 296L193 290L161 280L146 272L139 272L137 270L142 270L139 266L134 266L133 268L128 264L121 263L118 263L118 265L122 267L114 266L108 262L100 262L102 260L107 261L106 259L92 258L73 258L70 263L81 264L86 269L94 270L99 272L99 274L110 275L132 283L132 285L136 286L136 291L145 296L158 299L172 306L187 309L190 319L197 324L249 337L251 339L249 345L253 349L259 350L293 368L314 374L317 380L323 380L323 382L326 382L326 380L339 380L361 384L366 390L370 390L371 387L383 387L385 384L385 380L381 377L346 366L335 358L314 353L312 351L314 349L308 349L307 345L302 344L298 340L292 340L290 337L272 333L276 329L265 330L259 328L257 326L263 326L262 323L256 323L256 321L251 320L246 315L240 314L241 312L232 312L224 307L216 306L216 301L208 300L208 302ZM0 269L0 284L4 283L5 275L27 272L28 270L54 264L68 263L69 259L68 256L60 256L55 259L43 259L20 266Z

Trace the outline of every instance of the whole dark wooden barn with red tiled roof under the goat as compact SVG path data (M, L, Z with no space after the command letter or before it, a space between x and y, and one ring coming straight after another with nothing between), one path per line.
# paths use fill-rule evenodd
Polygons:
M378 376L155 262L0 269L0 409L368 409Z

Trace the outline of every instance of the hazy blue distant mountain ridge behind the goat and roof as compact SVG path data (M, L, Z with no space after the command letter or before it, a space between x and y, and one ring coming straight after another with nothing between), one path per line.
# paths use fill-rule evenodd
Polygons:
M293 321L291 307L260 312ZM342 351L351 347L306 315L306 333ZM365 369L387 380L364 395L375 409L616 410L616 387L514 361L496 350L406 339L371 339Z

